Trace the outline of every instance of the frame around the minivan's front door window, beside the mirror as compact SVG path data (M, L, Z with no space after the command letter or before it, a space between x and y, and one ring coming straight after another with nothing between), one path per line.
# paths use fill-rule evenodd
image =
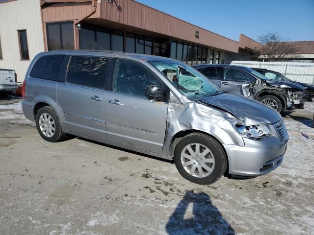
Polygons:
M112 64L112 67L111 67L110 79L109 79L109 84L108 84L108 91L110 91L114 94L127 95L130 97L134 97L134 98L138 98L138 99L144 99L144 100L148 100L148 101L150 100L146 96L144 96L144 97L143 96L136 96L136 95L132 95L132 94L124 94L124 93L119 93L119 92L113 91L114 82L115 82L116 75L118 72L118 64L120 61L133 63L135 65L142 67L144 70L147 70L149 73L151 73L151 75L153 75L163 85L163 87L165 88L165 90L167 92L167 94L165 96L165 100L163 100L162 102L169 103L169 98L170 98L169 96L170 96L171 89L162 81L162 79L160 79L160 77L157 76L157 74L155 74L153 71L151 71L150 68L148 68L146 65L144 65L144 64L142 64L136 60L131 60L131 59L125 59L125 58L115 59L114 63Z

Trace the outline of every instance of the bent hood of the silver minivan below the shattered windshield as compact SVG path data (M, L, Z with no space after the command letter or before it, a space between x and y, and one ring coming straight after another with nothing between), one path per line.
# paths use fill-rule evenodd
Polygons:
M200 98L205 105L225 110L240 119L246 125L274 123L281 119L279 113L253 99L238 94L224 93Z

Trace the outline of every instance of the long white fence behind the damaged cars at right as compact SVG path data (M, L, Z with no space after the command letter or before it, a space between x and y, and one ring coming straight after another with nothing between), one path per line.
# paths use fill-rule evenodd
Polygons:
M286 74L286 77L293 81L314 85L314 63L234 60L231 64L277 71L284 75Z

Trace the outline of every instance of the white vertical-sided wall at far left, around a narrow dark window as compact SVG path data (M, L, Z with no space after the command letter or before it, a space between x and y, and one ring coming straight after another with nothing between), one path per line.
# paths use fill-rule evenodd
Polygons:
M19 29L26 29L29 61L20 59ZM39 0L0 3L0 40L3 55L0 68L15 70L18 82L23 82L30 61L44 51Z

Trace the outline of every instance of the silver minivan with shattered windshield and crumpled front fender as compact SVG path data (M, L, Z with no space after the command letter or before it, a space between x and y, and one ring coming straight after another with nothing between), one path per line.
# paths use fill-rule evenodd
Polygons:
M46 141L65 133L174 160L187 180L255 177L282 161L282 117L226 93L184 63L113 51L53 51L31 62L22 107Z

